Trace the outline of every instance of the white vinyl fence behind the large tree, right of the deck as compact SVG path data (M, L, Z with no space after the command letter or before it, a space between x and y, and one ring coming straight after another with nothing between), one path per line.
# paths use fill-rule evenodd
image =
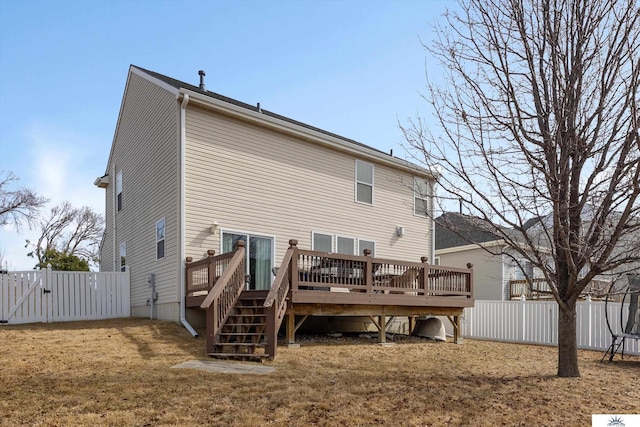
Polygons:
M620 303L609 302L609 322L614 332L622 330ZM623 319L627 318L625 304ZM577 303L578 348L605 352L611 333L605 318L604 301ZM475 301L464 310L462 336L491 341L558 344L558 304L555 301ZM624 352L640 356L638 340L626 340Z

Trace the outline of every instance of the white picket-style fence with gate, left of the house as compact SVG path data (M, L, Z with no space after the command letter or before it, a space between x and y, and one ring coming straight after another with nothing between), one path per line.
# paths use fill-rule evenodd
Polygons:
M67 322L131 315L129 272L0 274L0 323Z

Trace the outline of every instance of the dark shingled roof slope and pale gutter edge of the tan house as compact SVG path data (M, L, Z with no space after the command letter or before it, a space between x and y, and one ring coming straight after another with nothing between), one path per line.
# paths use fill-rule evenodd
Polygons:
M376 148L373 148L373 147L368 146L366 144L363 144L361 142L355 141L353 139L345 138L343 136L337 135L337 134L332 133L332 132L328 132L326 130L317 128L315 126L311 126L311 125L308 125L306 123L302 123L302 122L299 122L297 120L293 120L291 118L282 116L280 114L276 114L274 112L262 109L259 104L257 104L257 105L247 104L245 102L241 102L241 101L238 101L236 99L229 98L227 96L220 95L218 93L208 91L208 90L206 90L206 88L205 89L201 89L199 86L195 86L195 85L192 85L192 84L189 84L189 83L185 83L183 81L180 81L180 80L165 76L163 74L156 73L155 71L147 70L145 68L138 67L136 65L131 65L131 67L135 68L135 69L137 69L139 71L142 71L143 73L145 73L145 74L147 74L147 75L149 75L151 77L154 77L154 78L158 79L159 81L171 86L172 88L177 89L178 91L180 91L181 89L185 89L185 90L188 90L188 91L191 91L191 92L196 92L196 93L205 95L205 96L207 96L207 97L209 97L211 99L214 99L214 100L222 101L222 102L234 105L236 107L240 107L242 109L245 109L245 110L248 110L248 111L251 111L251 112L254 112L254 113L259 113L259 114L261 114L263 116L267 116L267 117L271 117L271 118L274 118L274 119L277 119L277 120L281 120L283 122L286 122L286 123L289 123L289 124L292 124L292 125L295 125L295 126L300 126L302 128L311 130L313 132L318 132L320 134L329 136L331 138L336 138L336 139L338 139L340 141L343 141L343 142L346 142L348 144L351 144L351 145L354 145L354 146L357 146L357 147L360 147L360 148L364 148L365 150L368 150L368 151L372 151L372 152L376 153L377 155L383 155L383 156L386 156L389 159L393 159L396 162L398 162L399 165L402 164L405 168L406 167L412 168L416 173L428 174L428 175L431 175L434 179L437 179L437 174L435 172L426 170L426 169L424 169L424 168L422 168L420 166L417 166L417 165L413 165L413 164L411 164L409 162L406 162L405 160L402 160L402 159L399 159L397 157L394 157L393 155L391 155L389 153L386 153L384 151L378 150Z

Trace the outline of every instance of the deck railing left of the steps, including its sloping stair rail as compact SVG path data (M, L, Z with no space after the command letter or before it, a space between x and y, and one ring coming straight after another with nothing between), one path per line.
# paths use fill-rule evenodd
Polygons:
M211 254L204 260L187 263L187 295L189 292L202 292L205 283L207 286L211 284L200 305L206 310L207 352L217 342L231 309L245 287L244 260L245 242L240 240L233 252L217 257Z

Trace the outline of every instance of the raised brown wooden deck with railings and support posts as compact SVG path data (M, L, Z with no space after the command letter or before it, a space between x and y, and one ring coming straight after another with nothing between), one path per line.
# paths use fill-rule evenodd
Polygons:
M384 342L389 317L406 316L412 328L417 316L442 315L453 324L458 341L459 316L465 307L473 306L471 265L457 269L430 265L426 258L405 262L373 258L367 252L350 256L301 250L295 240L289 244L260 307L266 324L265 335L258 341L264 342L266 356L275 357L277 333L285 317L289 344L295 343L295 332L307 316L369 316ZM244 245L229 254L215 256L211 251L203 260L188 259L186 270L187 306L207 310L207 353L212 354L243 294Z

